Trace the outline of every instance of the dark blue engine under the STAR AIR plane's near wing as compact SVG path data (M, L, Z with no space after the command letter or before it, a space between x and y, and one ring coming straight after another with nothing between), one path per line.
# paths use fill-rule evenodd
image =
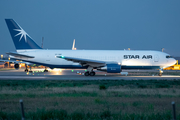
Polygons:
M107 73L120 73L121 65L119 64L107 64L105 67L98 68L97 70L106 71Z

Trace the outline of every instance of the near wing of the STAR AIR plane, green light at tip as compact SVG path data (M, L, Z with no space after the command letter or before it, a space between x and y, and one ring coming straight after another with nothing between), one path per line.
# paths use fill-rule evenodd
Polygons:
M68 61L76 62L81 64L82 66L92 66L92 67L103 67L106 65L106 62L99 60L91 60L91 59L83 59L83 58L75 58L75 57L67 57L67 56L56 56L56 58L62 58Z

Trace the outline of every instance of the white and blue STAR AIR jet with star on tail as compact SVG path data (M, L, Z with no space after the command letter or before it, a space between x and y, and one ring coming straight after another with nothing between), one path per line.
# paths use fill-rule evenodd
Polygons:
M94 70L107 73L121 73L123 69L158 69L176 63L167 53L152 50L50 50L42 49L13 19L5 19L16 47L16 52L8 52L11 58L51 69L86 69L85 76L94 76ZM14 67L19 68L19 63Z

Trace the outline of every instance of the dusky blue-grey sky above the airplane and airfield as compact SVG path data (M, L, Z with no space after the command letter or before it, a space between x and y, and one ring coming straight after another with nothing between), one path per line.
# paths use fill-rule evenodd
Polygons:
M180 56L180 0L0 0L0 54L15 51L5 18L44 48L158 50Z

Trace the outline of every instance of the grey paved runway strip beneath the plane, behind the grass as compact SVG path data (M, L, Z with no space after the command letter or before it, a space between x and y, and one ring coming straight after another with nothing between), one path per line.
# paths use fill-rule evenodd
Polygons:
M33 73L26 73L24 69L0 70L0 80L180 80L178 75L141 76L141 75L121 75L96 72L95 76L84 76L84 70L49 70L44 73L43 69L33 69ZM132 72L132 71L125 71ZM157 71L135 71L137 73L157 72Z

